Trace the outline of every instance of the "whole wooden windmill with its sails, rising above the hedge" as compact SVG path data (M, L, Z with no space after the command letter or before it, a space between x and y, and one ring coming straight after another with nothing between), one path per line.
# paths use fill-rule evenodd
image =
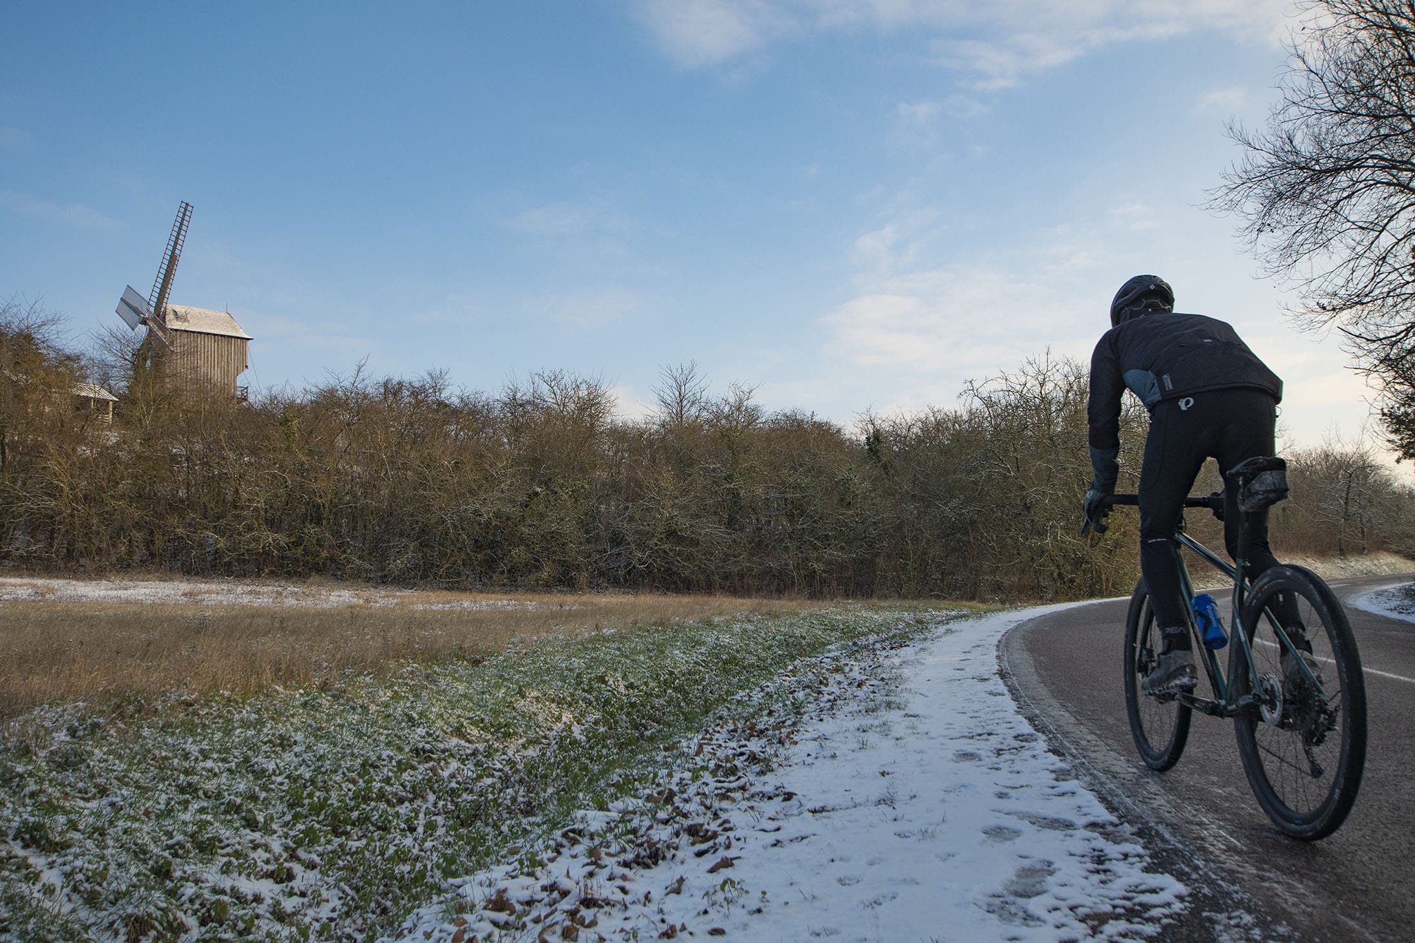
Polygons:
M117 314L127 327L147 328L147 336L139 348L142 359L149 363L168 385L185 392L198 387L243 396L236 386L236 377L248 366L248 345L250 335L241 329L236 320L226 311L191 308L168 304L177 263L183 246L187 245L187 226L191 223L191 204L183 201L177 208L177 219L167 236L157 277L147 298L127 286L117 303Z

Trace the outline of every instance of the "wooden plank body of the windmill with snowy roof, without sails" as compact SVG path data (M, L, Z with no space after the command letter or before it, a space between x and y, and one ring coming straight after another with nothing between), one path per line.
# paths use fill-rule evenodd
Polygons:
M168 304L161 338L149 332L146 353L153 369L168 383L241 396L236 379L248 366L250 335L225 311Z

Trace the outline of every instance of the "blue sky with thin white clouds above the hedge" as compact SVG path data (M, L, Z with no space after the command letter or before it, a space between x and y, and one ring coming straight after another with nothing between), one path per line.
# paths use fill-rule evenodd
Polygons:
M195 7L195 8L194 8ZM665 365L841 423L1088 358L1156 271L1288 385L1367 390L1201 208L1261 123L1281 0L0 3L0 297L75 338L147 294L255 338L253 389Z

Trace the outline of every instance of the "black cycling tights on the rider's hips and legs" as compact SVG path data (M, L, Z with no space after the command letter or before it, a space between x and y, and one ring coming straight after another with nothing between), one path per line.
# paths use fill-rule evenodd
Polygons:
M1247 458L1272 455L1276 416L1276 400L1254 389L1165 400L1150 413L1140 469L1140 571L1159 626L1186 625L1173 536L1199 469L1206 458L1217 458L1218 471L1227 474ZM1238 496L1232 488L1224 489L1224 543L1230 557L1238 556ZM1268 547L1266 510L1249 515L1247 557L1249 578L1278 563ZM1279 601L1278 618L1285 626L1295 625L1295 601Z

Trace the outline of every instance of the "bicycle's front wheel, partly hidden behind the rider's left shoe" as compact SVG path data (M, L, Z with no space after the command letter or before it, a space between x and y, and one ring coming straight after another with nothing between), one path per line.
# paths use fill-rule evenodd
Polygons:
M1125 713L1131 720L1131 735L1145 765L1165 772L1179 762L1189 741L1193 710L1180 704L1173 694L1155 696L1140 691L1140 681L1155 669L1159 659L1159 626L1149 607L1149 590L1142 578L1131 595L1131 609L1125 615Z

